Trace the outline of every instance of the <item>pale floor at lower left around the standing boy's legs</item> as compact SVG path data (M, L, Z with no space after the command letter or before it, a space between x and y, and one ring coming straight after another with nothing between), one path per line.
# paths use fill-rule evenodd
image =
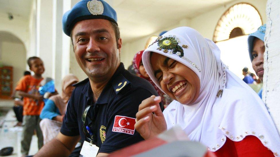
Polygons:
M7 109L5 109L7 110ZM21 157L20 153L20 141L22 136L22 127L14 127L17 123L15 114L11 108L8 112L1 110L2 114L0 117L0 149L8 146L13 147L13 154L10 156ZM31 146L29 150L29 155L34 155L38 151L37 137L34 135L32 137Z

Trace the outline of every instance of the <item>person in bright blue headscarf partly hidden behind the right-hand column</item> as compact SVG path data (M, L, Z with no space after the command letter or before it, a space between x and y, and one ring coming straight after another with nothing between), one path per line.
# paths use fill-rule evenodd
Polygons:
M252 62L252 67L258 75L261 82L263 82L263 54L265 53L265 30L266 24L260 26L257 31L248 35L248 51ZM258 92L262 98L263 88Z

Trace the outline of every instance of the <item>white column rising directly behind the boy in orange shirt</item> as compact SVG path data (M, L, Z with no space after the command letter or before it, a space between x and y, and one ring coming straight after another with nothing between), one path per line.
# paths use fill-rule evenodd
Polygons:
M53 3L49 0L37 0L37 37L36 54L45 66L44 77L53 77L53 51L52 51L52 9Z

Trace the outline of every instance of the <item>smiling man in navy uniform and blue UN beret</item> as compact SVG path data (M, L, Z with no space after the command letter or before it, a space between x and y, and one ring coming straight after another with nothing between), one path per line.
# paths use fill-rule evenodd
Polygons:
M134 128L135 114L142 100L157 93L120 63L122 40L114 9L103 0L82 0L63 15L63 31L88 79L75 85L60 133L36 156L68 156L80 138L90 150L82 148L81 154L90 156L143 140Z

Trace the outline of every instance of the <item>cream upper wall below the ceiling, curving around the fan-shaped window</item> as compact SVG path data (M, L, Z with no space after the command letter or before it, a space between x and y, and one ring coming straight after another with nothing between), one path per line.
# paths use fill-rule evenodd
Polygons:
M147 35L145 37L141 37L139 39L135 39L131 42L123 43L123 48L121 51L121 61L125 64L125 67L127 68L133 59L133 56L138 51L141 51L144 49L146 41L151 37L152 35L159 35L161 31L164 30L170 30L176 27L181 26L188 26L196 29L206 38L212 39L213 33L215 30L215 27L217 25L217 22L219 21L220 17L223 15L223 13L229 9L232 5L235 5L237 3L249 3L250 5L254 6L258 12L260 13L260 17L262 18L263 23L266 22L266 14L265 14L265 7L266 7L267 0L237 0L233 1L231 3L228 3L224 6L217 7L215 9L212 9L211 11L208 11L207 13L201 14L197 17L194 17L192 19L183 19L181 21L178 21L178 24L167 27L166 29L159 30L155 33L152 33L151 35ZM120 32L120 36L121 36Z

